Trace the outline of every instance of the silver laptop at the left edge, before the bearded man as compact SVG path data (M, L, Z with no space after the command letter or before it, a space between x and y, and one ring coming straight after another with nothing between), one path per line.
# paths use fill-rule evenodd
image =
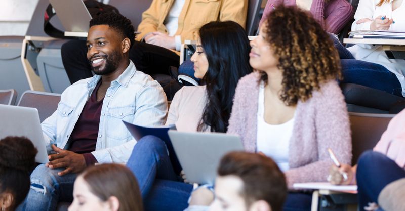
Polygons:
M25 136L32 141L38 154L35 162L48 162L48 154L36 108L0 105L0 139Z

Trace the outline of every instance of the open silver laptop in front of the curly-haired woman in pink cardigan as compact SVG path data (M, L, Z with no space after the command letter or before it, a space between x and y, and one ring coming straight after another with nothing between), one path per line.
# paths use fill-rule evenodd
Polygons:
M221 158L231 151L244 151L240 138L224 133L168 131L174 151L191 183L214 184Z

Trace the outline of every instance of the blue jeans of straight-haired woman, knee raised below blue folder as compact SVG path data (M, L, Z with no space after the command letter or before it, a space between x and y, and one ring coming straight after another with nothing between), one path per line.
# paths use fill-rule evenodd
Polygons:
M161 139L140 139L127 167L138 179L145 210L184 210L188 206L192 185L180 182Z

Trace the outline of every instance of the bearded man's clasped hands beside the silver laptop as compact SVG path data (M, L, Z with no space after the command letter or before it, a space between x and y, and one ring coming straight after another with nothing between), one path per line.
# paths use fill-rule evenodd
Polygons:
M59 176L63 176L68 173L79 173L86 168L85 157L81 154L77 154L68 150L63 150L51 145L52 149L57 152L57 154L52 154L48 156L50 160L45 166L56 169L56 168L66 168L65 170L58 172Z

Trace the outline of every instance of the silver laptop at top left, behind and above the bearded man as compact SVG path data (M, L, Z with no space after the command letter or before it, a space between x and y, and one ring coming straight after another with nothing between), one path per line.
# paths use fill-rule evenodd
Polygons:
M67 32L89 32L92 19L82 0L49 0Z

